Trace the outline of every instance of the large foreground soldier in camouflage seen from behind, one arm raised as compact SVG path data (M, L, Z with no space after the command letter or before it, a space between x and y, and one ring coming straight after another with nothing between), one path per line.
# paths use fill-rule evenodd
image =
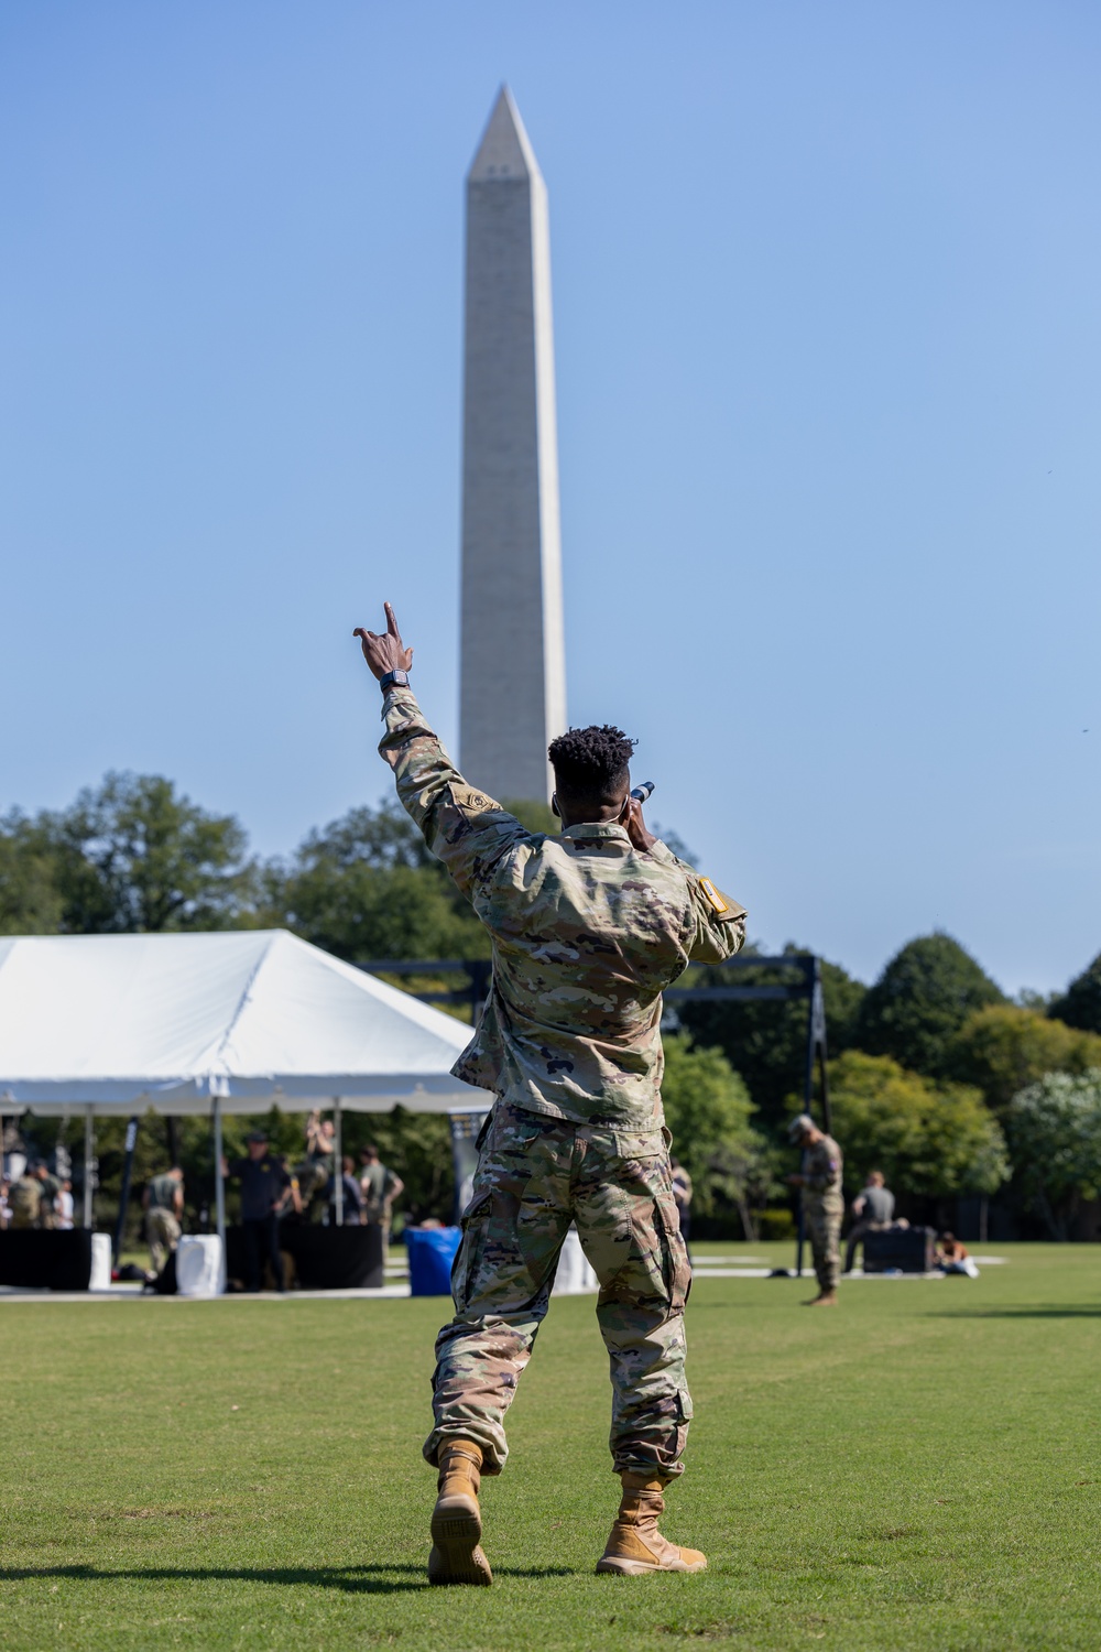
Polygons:
M380 752L494 943L489 999L452 1067L497 1104L462 1216L456 1317L436 1345L429 1578L492 1581L479 1480L505 1465L505 1412L571 1222L601 1284L612 1465L624 1488L598 1571L700 1571L703 1555L657 1530L692 1417L690 1274L660 1100L662 990L692 960L735 953L744 910L645 829L629 796L632 742L617 729L553 742L563 831L525 831L451 763L409 691L413 654L390 605L386 620L385 636L357 631L385 692Z

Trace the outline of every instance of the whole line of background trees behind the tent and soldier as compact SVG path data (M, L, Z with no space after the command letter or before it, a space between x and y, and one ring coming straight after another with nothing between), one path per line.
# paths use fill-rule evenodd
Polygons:
M556 829L541 803L508 806L535 831ZM109 773L66 809L0 818L3 935L249 927L286 927L352 963L489 953L480 923L396 803L350 809L267 861L249 854L234 816L200 808L158 775ZM692 971L695 985L718 980ZM764 966L740 975L740 985L776 980ZM872 986L824 963L824 991L834 1125L853 1191L877 1166L918 1204L1000 1191L1040 1231L1076 1231L1084 1203L1101 1196L1101 957L1063 995L1010 1003L956 940L936 933L908 942ZM688 1003L670 1019L664 1099L697 1214L736 1221L749 1236L782 1198L806 1004ZM348 1127L391 1155L413 1214L449 1214L446 1120L396 1110ZM200 1189L205 1127L175 1128L175 1156L195 1161ZM299 1123L276 1128L295 1151ZM107 1193L116 1156L120 1168L114 1133L104 1128L101 1148ZM157 1168L160 1143L149 1133L147 1153Z

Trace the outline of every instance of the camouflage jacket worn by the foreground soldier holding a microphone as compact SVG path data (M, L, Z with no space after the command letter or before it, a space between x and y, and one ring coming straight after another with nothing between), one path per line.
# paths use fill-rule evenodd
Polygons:
M398 796L494 942L454 1075L576 1123L660 1123L662 990L690 961L738 952L744 909L616 823L525 831L467 785L409 689L386 694L383 720Z

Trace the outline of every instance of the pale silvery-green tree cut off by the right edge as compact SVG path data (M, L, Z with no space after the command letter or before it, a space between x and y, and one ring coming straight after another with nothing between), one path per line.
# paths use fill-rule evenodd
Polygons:
M1009 1104L1017 1175L1053 1239L1068 1239L1081 1199L1101 1196L1101 1067L1048 1072Z

